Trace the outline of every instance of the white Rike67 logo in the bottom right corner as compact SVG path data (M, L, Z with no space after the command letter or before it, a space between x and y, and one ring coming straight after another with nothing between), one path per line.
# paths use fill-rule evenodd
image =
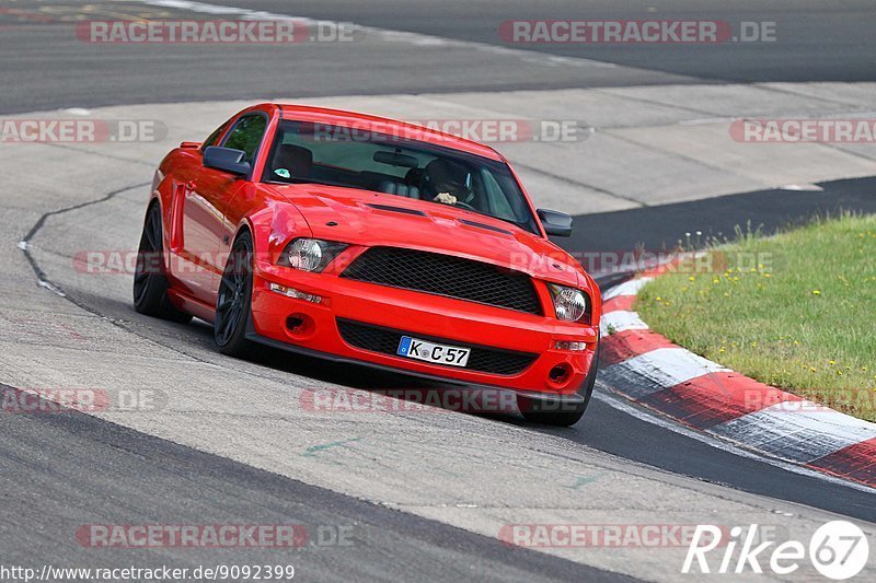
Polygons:
M749 570L762 573L764 562L779 575L797 571L807 559L816 571L827 579L842 581L855 576L864 569L869 556L869 545L864 532L848 521L832 521L820 526L809 539L808 548L798 540L762 541L759 526L752 524L744 533L741 526L729 530L728 539L723 534L726 528L711 524L700 524L688 547L682 573L744 573ZM711 551L721 549L712 556ZM738 549L738 555L737 555ZM715 564L719 559L719 564ZM694 567L695 563L695 567Z

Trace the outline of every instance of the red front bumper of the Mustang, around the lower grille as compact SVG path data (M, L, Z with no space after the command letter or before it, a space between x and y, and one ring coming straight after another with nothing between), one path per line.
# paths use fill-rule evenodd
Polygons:
M310 299L290 298L272 283ZM315 298L319 302L314 302ZM473 347L531 362L510 374L434 364L396 355L392 348L366 349L346 340L339 322L451 346ZM336 276L257 263L253 278L252 329L247 337L323 359L355 362L415 376L514 389L533 397L577 401L599 339L596 327ZM555 348L557 340L585 342L581 351ZM557 375L558 371L563 375Z

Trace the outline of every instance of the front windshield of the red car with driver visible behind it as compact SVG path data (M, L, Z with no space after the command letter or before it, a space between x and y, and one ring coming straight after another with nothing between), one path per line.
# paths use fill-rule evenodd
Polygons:
M538 234L504 162L397 136L283 121L263 179L384 193L486 214Z

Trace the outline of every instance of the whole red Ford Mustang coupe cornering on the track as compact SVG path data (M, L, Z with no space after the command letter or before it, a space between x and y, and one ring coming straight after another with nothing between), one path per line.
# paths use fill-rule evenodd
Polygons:
M508 162L361 114L263 104L162 161L138 312L258 343L479 389L568 425L593 388L600 295L548 235Z

